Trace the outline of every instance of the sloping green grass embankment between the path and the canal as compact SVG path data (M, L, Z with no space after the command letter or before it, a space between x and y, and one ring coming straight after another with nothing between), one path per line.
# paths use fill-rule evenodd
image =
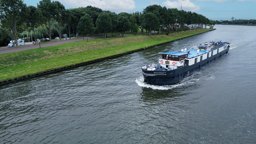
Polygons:
M0 54L0 81L80 62L128 52L147 46L196 35L201 29L166 35L126 35L107 39L90 39L20 52Z

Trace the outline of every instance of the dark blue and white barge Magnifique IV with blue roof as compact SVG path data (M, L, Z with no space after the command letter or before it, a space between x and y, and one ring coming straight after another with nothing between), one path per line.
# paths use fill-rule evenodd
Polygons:
M230 47L229 43L221 40L191 46L180 52L159 52L158 62L141 67L144 82L153 85L177 84L227 54Z

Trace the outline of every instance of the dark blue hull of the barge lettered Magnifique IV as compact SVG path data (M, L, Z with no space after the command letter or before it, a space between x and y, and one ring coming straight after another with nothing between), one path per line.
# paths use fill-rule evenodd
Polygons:
M184 78L191 76L197 70L204 68L208 64L212 63L213 61L219 59L221 56L227 54L229 51L229 47L226 48L224 51L217 53L205 60L197 62L191 66L184 66L181 68L177 68L174 70L167 70L167 71L156 71L156 70L145 70L142 69L142 74L144 77L144 82L147 84L153 85L172 85L177 84ZM186 63L186 62L185 62Z

